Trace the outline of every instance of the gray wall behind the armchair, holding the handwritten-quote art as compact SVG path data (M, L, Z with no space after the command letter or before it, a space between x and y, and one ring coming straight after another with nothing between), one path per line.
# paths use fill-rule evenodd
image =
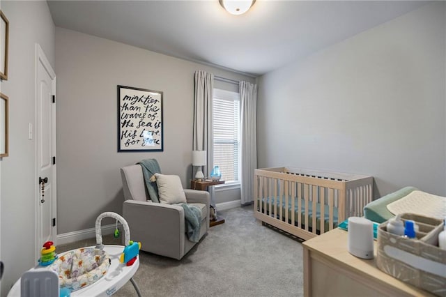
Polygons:
M119 168L156 158L164 174L192 177L194 72L245 77L83 33L56 28L58 234L121 213ZM164 92L164 151L117 153L116 85ZM219 193L222 201L225 195ZM218 197L215 201L219 203ZM111 221L104 220L103 224Z

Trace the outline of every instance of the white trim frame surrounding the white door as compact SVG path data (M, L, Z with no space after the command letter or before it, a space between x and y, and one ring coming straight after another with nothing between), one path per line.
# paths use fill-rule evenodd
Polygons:
M49 63L47 56L45 56L45 52L43 52L42 47L38 43L36 43L36 63L35 63L35 91L34 91L34 128L30 128L30 133L34 135L34 181L33 184L35 186L35 197L34 197L34 228L36 236L34 238L34 251L35 251L35 258L36 260L40 258L40 250L42 248L43 243L39 242L39 234L40 234L40 187L38 183L38 177L39 177L39 169L38 169L38 96L39 96L39 90L38 90L38 66L39 63L43 65L45 70L47 70L47 73L49 74L49 77L52 79L52 95L56 96L56 73L54 72L51 64ZM54 157L56 156L56 103L52 104L52 151L54 152ZM52 217L56 218L57 222L57 188L56 188L56 165L52 166L52 187L54 191L54 199L52 199ZM57 238L57 224L52 228L52 238L54 241L54 244L56 245L56 238Z

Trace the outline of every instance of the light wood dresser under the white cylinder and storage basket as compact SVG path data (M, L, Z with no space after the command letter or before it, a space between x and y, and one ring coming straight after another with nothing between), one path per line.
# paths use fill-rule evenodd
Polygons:
M302 243L305 296L433 296L380 271L375 259L350 254L347 235L333 229Z

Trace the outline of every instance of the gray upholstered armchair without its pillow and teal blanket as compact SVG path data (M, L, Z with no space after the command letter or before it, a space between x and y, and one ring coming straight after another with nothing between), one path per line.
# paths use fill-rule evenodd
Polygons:
M150 200L141 165L121 168L124 204L123 217L130 227L132 241L141 242L141 250L181 259L196 243L185 234L184 209L178 205ZM201 209L201 238L209 229L209 193L184 189L187 204Z

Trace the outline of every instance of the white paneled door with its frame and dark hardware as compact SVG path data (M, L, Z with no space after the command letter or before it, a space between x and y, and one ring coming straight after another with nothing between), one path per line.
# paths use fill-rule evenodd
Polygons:
M36 258L56 241L56 75L36 44ZM32 127L30 135L32 139Z

